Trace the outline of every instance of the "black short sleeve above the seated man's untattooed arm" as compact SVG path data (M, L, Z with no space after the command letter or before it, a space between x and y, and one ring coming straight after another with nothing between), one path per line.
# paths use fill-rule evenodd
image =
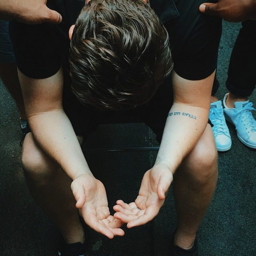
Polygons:
M9 33L16 64L26 76L47 78L60 69L61 56L56 35L48 26L47 23L27 25L16 21L10 22Z

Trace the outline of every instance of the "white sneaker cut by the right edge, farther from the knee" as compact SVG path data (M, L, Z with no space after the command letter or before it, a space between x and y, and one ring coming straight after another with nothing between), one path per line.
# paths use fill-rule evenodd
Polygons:
M224 115L226 120L236 127L236 134L239 140L249 148L256 148L256 120L252 116L252 102L236 101L235 108L226 106L228 93L223 99Z

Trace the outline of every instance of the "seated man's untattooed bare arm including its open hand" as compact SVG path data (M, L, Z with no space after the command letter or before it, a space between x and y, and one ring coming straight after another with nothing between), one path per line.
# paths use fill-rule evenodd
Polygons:
M92 175L62 108L62 69L45 79L18 73L33 136L44 152L73 180L71 189L84 221L109 238L123 236L124 231L120 229L122 223L110 215L104 185Z

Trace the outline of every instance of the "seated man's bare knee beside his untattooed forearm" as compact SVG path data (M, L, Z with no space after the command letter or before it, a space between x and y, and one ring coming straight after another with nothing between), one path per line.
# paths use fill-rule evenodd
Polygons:
M36 144L31 132L25 137L21 162L27 179L44 183L54 175L53 161Z

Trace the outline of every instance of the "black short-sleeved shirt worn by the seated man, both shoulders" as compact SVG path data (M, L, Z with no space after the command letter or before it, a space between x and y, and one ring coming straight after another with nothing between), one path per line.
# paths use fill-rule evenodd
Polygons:
M212 74L217 65L221 20L198 11L202 0L151 0L170 36L174 69L183 78L200 80ZM49 0L49 8L60 12L60 25L44 23L10 24L16 63L22 73L46 78L60 68L68 69L68 30L75 23L85 1Z

